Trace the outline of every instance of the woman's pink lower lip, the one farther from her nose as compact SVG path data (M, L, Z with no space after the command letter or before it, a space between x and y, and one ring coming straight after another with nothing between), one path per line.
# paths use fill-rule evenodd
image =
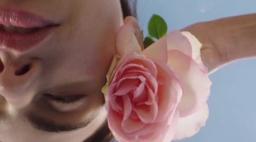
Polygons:
M16 27L33 28L45 27L47 25L58 25L57 22L48 20L40 15L28 11L13 10L0 7L0 24L13 25Z

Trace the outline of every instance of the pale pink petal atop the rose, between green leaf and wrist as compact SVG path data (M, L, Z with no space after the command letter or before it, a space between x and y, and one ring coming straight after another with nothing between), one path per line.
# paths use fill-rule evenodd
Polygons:
M166 36L168 51L179 50L186 55L192 56L192 46L189 39L180 31L172 31Z

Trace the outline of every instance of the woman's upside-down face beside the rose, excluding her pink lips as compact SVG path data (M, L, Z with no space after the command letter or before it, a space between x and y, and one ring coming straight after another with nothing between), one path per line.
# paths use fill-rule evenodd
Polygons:
M123 22L120 1L0 0L1 8L28 11L55 25L29 50L0 46L0 141L88 138L106 120L101 88Z

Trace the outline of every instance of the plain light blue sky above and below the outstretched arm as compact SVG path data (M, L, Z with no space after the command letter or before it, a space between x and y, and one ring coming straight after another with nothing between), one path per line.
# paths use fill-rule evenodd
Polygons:
M138 0L141 27L153 13L169 31L195 22L256 12L255 0ZM255 47L256 48L256 47ZM256 141L256 59L234 62L213 73L210 118L193 138L179 142Z

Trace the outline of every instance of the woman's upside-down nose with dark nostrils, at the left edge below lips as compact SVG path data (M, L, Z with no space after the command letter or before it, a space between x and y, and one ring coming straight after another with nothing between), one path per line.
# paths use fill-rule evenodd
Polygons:
M41 62L38 59L27 61L0 60L0 94L8 103L19 106L28 104L33 99L35 80L41 71Z

